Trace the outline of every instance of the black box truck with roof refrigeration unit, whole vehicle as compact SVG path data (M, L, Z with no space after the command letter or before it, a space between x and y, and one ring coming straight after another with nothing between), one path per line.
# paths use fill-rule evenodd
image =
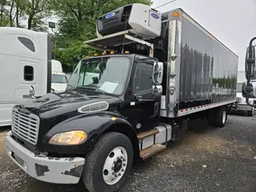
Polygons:
M6 151L38 180L118 191L187 119L225 126L238 57L181 9L123 6L98 18L97 34L85 43L102 55L82 59L66 91L14 107Z

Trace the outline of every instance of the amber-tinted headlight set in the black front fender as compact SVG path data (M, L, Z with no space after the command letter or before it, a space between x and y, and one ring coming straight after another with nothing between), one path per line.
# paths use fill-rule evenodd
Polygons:
M60 146L74 146L84 142L87 138L87 134L83 130L72 130L69 132L63 132L54 134L50 138L50 144Z

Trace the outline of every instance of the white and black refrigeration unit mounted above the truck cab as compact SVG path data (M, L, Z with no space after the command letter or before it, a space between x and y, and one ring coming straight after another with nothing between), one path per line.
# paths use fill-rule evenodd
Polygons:
M130 4L102 15L97 22L97 36L102 38L128 30L144 39L157 38L161 34L162 14L143 4Z

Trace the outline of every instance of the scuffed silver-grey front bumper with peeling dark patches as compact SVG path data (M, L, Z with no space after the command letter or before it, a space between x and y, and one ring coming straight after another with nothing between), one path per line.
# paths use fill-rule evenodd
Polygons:
M35 155L6 134L6 152L32 178L43 182L74 184L82 174L85 158L51 158Z

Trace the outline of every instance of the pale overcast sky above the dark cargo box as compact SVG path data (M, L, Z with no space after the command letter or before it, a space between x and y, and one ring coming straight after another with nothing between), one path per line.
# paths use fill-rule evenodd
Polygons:
M170 0L153 0L157 7ZM246 47L256 37L256 0L176 0L161 12L182 8L218 40L238 54L238 70L245 69Z

